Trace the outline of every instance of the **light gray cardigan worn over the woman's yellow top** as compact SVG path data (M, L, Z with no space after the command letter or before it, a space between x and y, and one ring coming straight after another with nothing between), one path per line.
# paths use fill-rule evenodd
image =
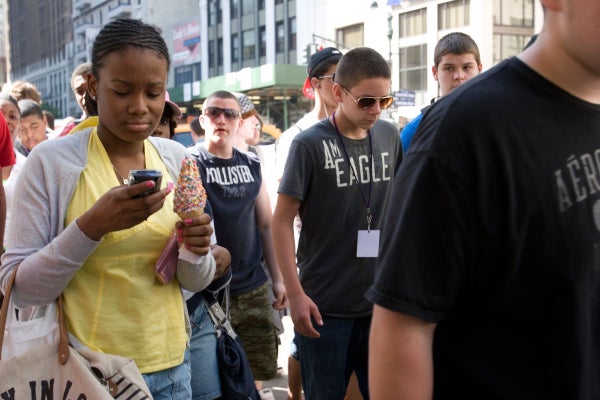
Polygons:
M20 264L13 291L16 306L54 301L100 243L88 238L76 223L64 226L67 207L87 164L91 131L38 144L20 172L0 268L0 286L4 291L11 271ZM185 148L168 139L149 140L176 179L186 156ZM194 262L180 259L177 268L181 286L199 291L212 281L214 259L210 254Z

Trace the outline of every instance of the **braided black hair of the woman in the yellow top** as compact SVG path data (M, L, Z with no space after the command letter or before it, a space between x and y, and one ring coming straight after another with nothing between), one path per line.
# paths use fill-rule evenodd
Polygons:
M167 69L171 64L169 49L156 27L137 19L120 18L104 25L96 36L92 46L92 74L98 77L98 69L108 54L130 47L154 51L167 61Z

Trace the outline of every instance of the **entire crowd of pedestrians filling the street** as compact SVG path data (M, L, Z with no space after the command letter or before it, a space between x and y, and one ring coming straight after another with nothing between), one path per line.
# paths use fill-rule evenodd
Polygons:
M272 165L243 93L204 100L192 147L171 140L164 39L109 22L71 77L79 118L50 129L28 82L0 94L2 288L18 268L24 316L62 295L73 344L132 358L155 399L221 398L202 293L225 290L257 389L291 316L290 400L599 398L600 3L541 2L535 41L487 71L443 36L440 96L402 131L380 119L378 52L315 53L314 109ZM186 157L208 202L181 220Z

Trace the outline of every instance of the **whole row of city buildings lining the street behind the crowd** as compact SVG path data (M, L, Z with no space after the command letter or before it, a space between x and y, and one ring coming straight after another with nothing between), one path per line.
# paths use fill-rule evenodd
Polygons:
M172 58L169 92L188 115L214 90L242 91L280 129L310 109L305 65L321 47L378 50L392 66L392 92L413 96L385 113L399 122L438 96L430 71L443 35L471 35L486 70L518 54L543 19L535 0L6 1L8 79L38 86L57 117L79 113L70 74L90 60L101 27L131 17L161 30Z

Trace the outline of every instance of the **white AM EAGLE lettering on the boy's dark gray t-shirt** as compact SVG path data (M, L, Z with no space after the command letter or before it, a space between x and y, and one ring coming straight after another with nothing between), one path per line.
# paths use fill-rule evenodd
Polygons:
M391 166L390 166L390 153L381 152L373 154L373 162L369 160L367 154L361 154L359 156L349 155L350 164L346 160L343 152L338 146L338 142L335 140L323 140L323 154L325 164L323 168L325 170L334 170L336 176L337 187L352 186L356 180L359 183L369 182L382 182L390 181L391 177ZM352 178L353 173L356 171L357 179Z

